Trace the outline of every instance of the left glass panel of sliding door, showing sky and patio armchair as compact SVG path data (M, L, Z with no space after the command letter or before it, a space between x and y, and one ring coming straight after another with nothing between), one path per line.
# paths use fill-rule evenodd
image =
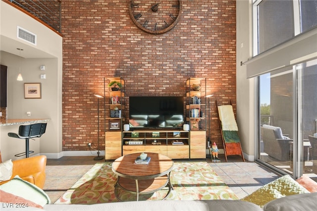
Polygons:
M292 172L293 70L280 69L259 76L260 159Z

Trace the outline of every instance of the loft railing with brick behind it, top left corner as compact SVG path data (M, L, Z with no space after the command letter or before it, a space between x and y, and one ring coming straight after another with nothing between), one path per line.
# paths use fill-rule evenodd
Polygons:
M8 0L39 18L54 30L61 31L61 0Z

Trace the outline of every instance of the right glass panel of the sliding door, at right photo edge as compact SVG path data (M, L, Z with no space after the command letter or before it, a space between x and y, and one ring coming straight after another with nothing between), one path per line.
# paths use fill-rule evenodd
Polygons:
M299 169L293 170L317 180L317 59L296 65L296 72L299 87L298 139L303 142ZM316 138L312 138L314 136Z

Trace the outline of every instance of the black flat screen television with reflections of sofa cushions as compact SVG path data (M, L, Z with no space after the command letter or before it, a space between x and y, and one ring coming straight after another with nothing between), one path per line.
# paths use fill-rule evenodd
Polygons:
M129 97L129 103L132 129L183 127L184 97Z

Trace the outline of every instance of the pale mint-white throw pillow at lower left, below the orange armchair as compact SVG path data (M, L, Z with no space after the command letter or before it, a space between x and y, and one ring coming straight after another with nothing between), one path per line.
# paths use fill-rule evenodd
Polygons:
M51 203L50 197L42 189L19 176L15 176L9 182L0 185L0 190L22 197L42 207Z

